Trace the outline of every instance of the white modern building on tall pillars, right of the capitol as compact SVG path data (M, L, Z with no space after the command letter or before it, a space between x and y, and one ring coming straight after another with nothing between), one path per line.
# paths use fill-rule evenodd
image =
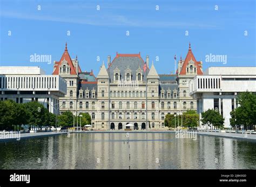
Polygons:
M190 94L197 99L197 111L219 111L230 127L230 112L238 107L239 92L256 92L256 67L210 67L190 81ZM201 115L200 115L201 116ZM202 126L201 128L206 128Z

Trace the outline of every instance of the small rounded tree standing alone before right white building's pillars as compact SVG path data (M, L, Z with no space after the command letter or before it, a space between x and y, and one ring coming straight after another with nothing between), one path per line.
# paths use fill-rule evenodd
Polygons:
M208 109L201 113L201 121L204 125L212 125L217 128L224 127L224 118L221 114L213 109Z

